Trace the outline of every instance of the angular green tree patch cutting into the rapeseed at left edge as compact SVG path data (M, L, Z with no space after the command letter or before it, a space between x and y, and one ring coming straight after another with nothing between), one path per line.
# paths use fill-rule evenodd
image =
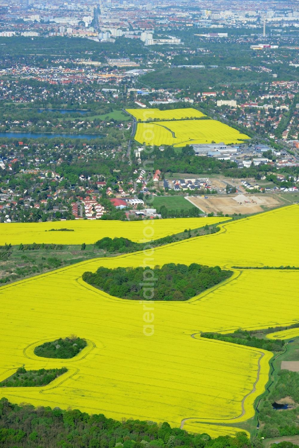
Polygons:
M26 370L25 367L19 367L13 375L4 379L0 383L1 388L26 388L46 386L58 376L67 372L65 367L61 369L39 369ZM0 438L1 440L1 438Z

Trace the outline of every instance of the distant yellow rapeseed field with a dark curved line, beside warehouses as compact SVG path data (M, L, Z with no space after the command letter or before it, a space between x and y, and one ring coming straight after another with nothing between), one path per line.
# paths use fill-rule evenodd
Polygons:
M187 144L238 143L249 138L217 120L175 120L138 123L135 140L147 145L186 146Z

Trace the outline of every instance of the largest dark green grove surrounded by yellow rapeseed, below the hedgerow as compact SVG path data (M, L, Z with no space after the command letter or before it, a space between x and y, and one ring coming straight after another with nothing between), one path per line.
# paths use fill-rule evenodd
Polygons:
M219 266L169 263L162 267L156 266L153 270L143 267L99 267L95 273L84 272L82 278L111 296L132 300L143 298L142 285L148 279L151 284L156 282L151 300L187 300L228 279L232 274L232 271L221 270Z

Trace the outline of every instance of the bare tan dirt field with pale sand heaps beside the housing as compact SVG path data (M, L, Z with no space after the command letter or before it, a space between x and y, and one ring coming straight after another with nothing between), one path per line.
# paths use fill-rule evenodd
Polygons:
M265 194L260 196L254 194L208 196L208 199L199 196L189 198L189 200L206 213L211 213L212 211L217 213L217 211L222 211L222 213L227 213L229 215L233 213L258 213L282 205L279 198Z

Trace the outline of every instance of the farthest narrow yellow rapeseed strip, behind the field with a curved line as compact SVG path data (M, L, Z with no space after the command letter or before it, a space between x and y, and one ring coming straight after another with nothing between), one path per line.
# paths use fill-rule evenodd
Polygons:
M193 108L182 108L182 109L169 109L165 111L160 111L155 108L144 108L144 109L126 109L126 111L134 116L136 120L140 121L151 121L155 118L158 120L183 120L191 118L200 118L205 116L202 112Z

